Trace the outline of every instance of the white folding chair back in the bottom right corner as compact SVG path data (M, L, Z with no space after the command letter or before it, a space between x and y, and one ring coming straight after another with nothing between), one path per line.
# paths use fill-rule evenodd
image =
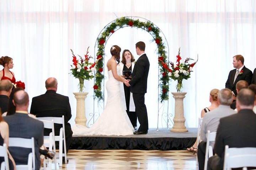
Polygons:
M229 148L226 145L223 170L241 167L256 167L256 148Z

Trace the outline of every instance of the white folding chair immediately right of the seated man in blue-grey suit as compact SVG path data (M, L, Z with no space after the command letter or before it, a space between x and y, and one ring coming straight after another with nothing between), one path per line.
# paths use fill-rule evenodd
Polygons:
M40 120L40 118L37 118L38 120ZM48 121L48 120L40 120L43 122L44 124L44 128L46 129L52 129L52 132L50 132L49 136L44 136L44 146L49 148L49 151L53 151L56 152L56 147L55 147L55 135L54 135L54 123L53 120L52 121ZM48 160L48 167L47 169L52 169L52 160L51 159L47 159ZM44 159L44 169L46 169L46 159ZM57 162L56 162L56 157L54 156L54 167L55 169L57 169Z

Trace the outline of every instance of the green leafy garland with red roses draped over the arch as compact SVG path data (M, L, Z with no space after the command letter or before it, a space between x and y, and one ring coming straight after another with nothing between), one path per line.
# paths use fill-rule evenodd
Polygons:
M102 34L98 37L98 51L97 51L97 59L98 62L96 63L96 74L95 74L95 84L94 84L94 93L95 97L98 98L98 100L102 100L102 91L101 91L101 83L104 78L104 75L99 71L99 68L103 68L103 56L105 55L105 42L106 39L115 32L115 30L123 28L123 27L137 27L142 28L146 30L148 33L150 33L154 41L156 42L158 46L158 64L160 66L160 72L161 78L160 78L160 84L161 87L161 93L160 93L160 99L161 102L164 100L168 100L168 92L169 92L169 76L166 75L168 73L168 70L163 66L162 63L166 63L166 51L165 46L162 43L162 37L159 35L160 29L158 27L155 27L154 24L150 21L147 22L141 22L139 19L132 19L129 17L121 17L116 19L116 21L112 22L108 27L105 28L105 30L102 32Z

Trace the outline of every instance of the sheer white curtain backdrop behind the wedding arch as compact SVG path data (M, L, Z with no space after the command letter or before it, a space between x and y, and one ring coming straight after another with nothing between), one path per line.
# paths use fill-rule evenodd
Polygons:
M155 23L165 34L170 46L170 60L175 61L178 48L184 58L199 56L191 78L183 82L184 112L187 127L196 127L201 110L210 105L209 92L222 89L232 57L241 54L245 66L256 67L256 4L254 0L0 0L0 56L14 59L16 80L26 84L32 97L43 94L48 77L58 80L58 93L69 96L73 117L78 80L70 75L72 61L69 49L83 55L94 44L101 29L122 16L139 16ZM157 75L156 45L145 31L124 28L106 44L106 60L112 45L130 49L137 59L135 43L143 40L150 60L146 105L149 126L156 127ZM106 61L105 60L105 61ZM105 74L106 75L106 74ZM156 82L156 83L155 83ZM171 82L170 91L175 91ZM92 112L93 80L85 83L86 114ZM174 99L170 95L170 113ZM161 127L161 126L160 126Z

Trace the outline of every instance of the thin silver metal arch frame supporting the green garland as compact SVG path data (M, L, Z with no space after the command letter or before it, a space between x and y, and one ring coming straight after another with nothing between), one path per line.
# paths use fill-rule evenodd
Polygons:
M123 18L123 17L119 17L119 18ZM117 18L117 19L119 19L119 18ZM145 21L148 21L148 22L150 22L150 23L153 23L153 22L151 22L151 21L149 21L148 19L146 19L146 18L143 18L143 17L137 17L137 16L126 16L125 18L131 18L131 19L134 19L134 18L138 18L138 19L144 19ZM113 22L115 22L116 21L116 19L114 19L113 21L111 21L111 22L109 22L105 27L103 27L102 28L102 30L101 30L101 32L98 34L98 36L97 36L97 39L96 39L96 41L95 41L95 45L94 45L94 56L96 56L96 46L97 46L97 40L98 40L98 38L100 37L100 35L102 34L102 32L103 32L103 30L105 30L105 28L107 28L111 23L113 23ZM158 26L156 26L156 24L154 24L153 23L153 25L155 26L155 27L157 27L159 30L160 30L160 33L164 36L164 38L165 38L165 42L164 43L166 43L167 44L167 48L168 48L168 55L167 55L167 57L168 57L168 61L169 61L169 44L168 44L168 41L167 41L167 39L166 39L166 36L165 36L165 34L162 32L162 30L158 27ZM121 29L121 28L124 28L124 27L130 27L130 26L123 26L123 27L119 27L117 30L119 30L119 29ZM137 27L138 28L138 27ZM143 29L143 30L145 30L144 28L141 28L141 29ZM115 30L115 32L117 31L117 30ZM147 30L145 30L146 32L148 32ZM149 32L148 32L149 33ZM154 38L154 36L151 34L151 33L149 33L153 38ZM108 38L106 39L106 41L105 41L105 44L107 43L107 41L108 41L108 39L111 37L111 35L112 34L110 34L109 36L108 36ZM105 51L105 50L104 50ZM95 60L95 58L96 57L94 57L94 60ZM103 60L103 66L105 65L105 58L103 57L102 58L102 60ZM159 76L160 76L160 69L159 69L160 67L158 66L158 84L160 84L160 79L159 79ZM103 75L105 75L104 73L103 73ZM94 84L95 84L95 78L94 78ZM103 79L103 86L104 86L104 84L105 84L105 78ZM169 83L168 83L169 84ZM103 107L104 107L104 103L105 103L105 96L104 96L104 93L105 93L105 88L103 88L103 90L102 90L102 95L103 95ZM94 124L95 123L95 121L97 120L95 120L95 93L94 93L94 104L93 104L93 113L90 113L89 115L90 116L92 116L91 117L91 119L89 119L89 121L88 121L88 125L89 125L89 123L90 123L90 121L93 121L93 123L92 124ZM99 101L97 102L97 105L98 105L98 107L99 107ZM159 100L159 86L158 86L158 122L157 122L157 131L159 131L159 105L160 105L160 100ZM162 108L162 107L164 107L164 103L163 103L163 105L160 107L160 108ZM166 114L166 117L167 117L167 121L166 121L166 123L167 123L167 128L170 128L170 125L169 125L169 117L170 117L170 115L171 115L171 117L172 117L172 114L169 114L169 99L168 99L168 101L167 101L167 113L162 113L162 119L163 119L163 115L164 114ZM100 115L100 113L98 113L98 115Z

